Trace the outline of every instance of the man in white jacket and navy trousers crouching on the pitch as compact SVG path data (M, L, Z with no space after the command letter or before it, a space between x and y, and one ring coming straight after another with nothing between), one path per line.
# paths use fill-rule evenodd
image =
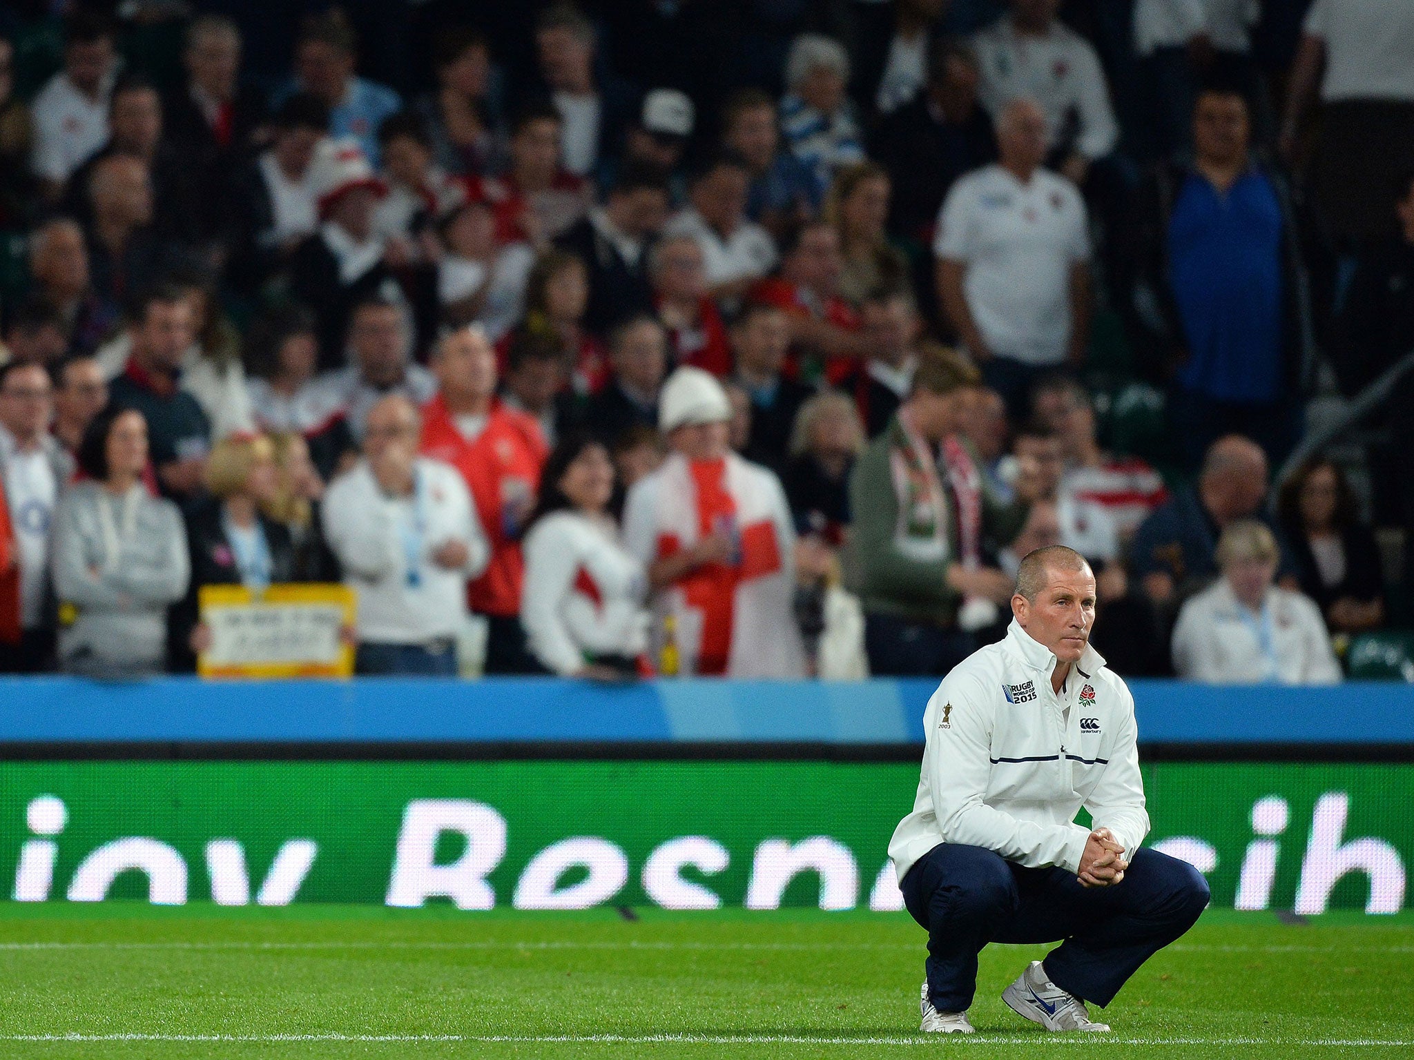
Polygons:
M1046 1030L1109 1030L1110 1003L1208 905L1188 862L1148 832L1134 698L1090 647L1094 574L1063 546L1021 561L1004 640L928 702L913 813L889 841L908 912L928 929L923 1030L970 1035L987 943L1053 943L1001 998ZM1075 824L1085 807L1093 828Z

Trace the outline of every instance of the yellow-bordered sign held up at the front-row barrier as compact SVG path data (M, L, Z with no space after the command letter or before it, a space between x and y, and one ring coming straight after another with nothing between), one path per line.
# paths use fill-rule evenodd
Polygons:
M202 677L348 677L348 637L358 596L348 585L202 585L201 620L211 642L197 657Z

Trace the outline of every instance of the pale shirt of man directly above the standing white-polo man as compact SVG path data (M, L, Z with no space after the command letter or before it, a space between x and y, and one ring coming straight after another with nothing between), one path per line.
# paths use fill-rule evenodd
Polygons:
M1032 99L1046 114L1051 143L1075 114L1080 134L1075 148L1087 158L1114 150L1120 139L1110 90L1094 48L1060 21L1044 37L1018 34L1011 17L1001 18L973 37L981 81L977 98L995 119L1014 99Z

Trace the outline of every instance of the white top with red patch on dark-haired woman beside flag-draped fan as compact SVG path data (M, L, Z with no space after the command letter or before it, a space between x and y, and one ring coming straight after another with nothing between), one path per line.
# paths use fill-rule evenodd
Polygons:
M587 657L648 647L648 577L612 524L578 512L536 522L523 543L520 625L546 667L568 677Z

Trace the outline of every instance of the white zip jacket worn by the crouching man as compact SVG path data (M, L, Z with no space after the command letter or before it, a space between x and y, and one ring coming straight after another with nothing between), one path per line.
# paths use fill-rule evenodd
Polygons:
M913 813L889 841L899 882L940 842L1077 872L1083 806L1126 851L1148 834L1134 697L1086 647L1059 694L1056 657L1015 622L953 667L928 701ZM1069 714L1066 714L1069 708Z

